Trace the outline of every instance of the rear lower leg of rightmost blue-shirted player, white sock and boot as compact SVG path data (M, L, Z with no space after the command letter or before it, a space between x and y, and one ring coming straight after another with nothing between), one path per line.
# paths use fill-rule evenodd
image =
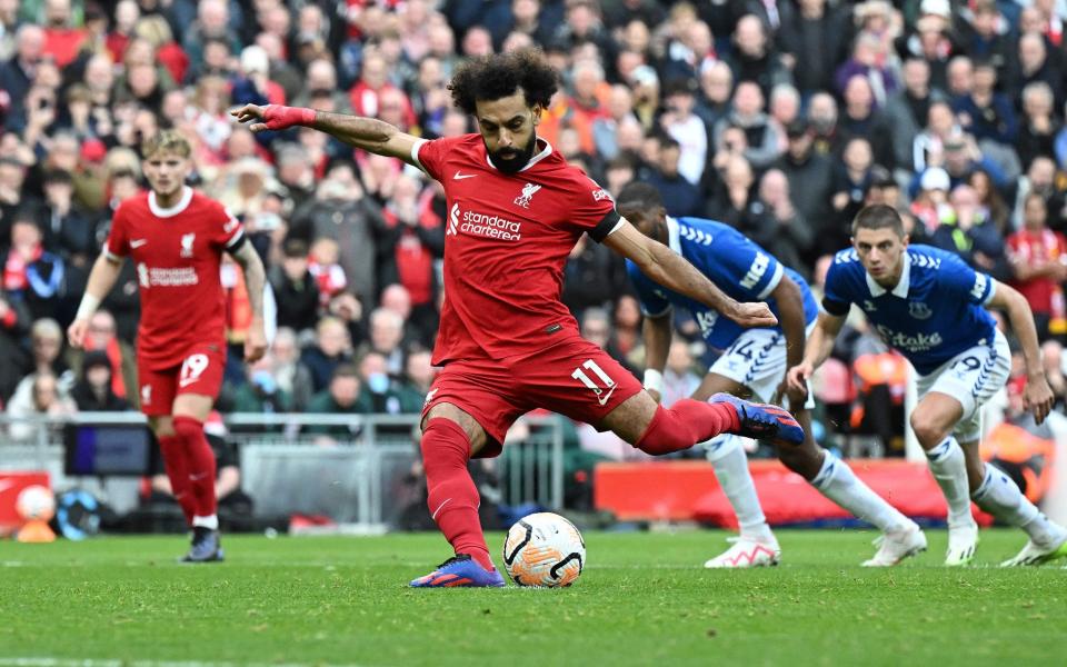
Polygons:
M1009 526L1021 528L1030 538L1021 551L1000 565L1040 565L1067 558L1067 529L1041 514L1003 470L986 465L979 455L978 444L978 440L960 442L967 461L970 498L984 511Z

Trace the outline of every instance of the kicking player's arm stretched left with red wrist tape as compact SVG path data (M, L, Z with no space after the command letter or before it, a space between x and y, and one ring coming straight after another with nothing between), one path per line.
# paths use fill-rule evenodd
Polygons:
M286 130L295 126L303 126L326 132L349 146L361 148L380 156L400 158L413 165L411 149L419 140L418 137L401 132L388 122L377 118L362 116L347 116L330 113L299 107L282 107L280 104L245 104L240 109L230 111L238 122L250 123L253 132L267 130Z

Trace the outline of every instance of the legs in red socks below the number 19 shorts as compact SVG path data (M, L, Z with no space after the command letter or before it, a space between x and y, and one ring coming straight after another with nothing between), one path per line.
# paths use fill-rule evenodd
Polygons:
M185 563L212 563L223 559L219 540L219 518L215 495L215 452L203 434L203 422L211 412L215 399L199 394L179 394L174 398L171 415L153 417L150 421L163 449L168 477L171 467L176 476L185 475L183 486L174 487L174 497L182 494L192 506L192 545L182 558ZM163 445L163 442L168 445ZM168 448L170 451L168 451ZM170 462L173 459L179 461ZM174 485L173 477L171 485ZM186 505L182 504L185 509Z

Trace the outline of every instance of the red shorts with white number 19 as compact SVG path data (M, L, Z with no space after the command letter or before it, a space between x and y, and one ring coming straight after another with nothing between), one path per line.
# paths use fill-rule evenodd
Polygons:
M225 370L226 349L213 342L190 347L186 359L178 366L152 368L138 361L141 412L149 417L170 415L179 394L218 398Z

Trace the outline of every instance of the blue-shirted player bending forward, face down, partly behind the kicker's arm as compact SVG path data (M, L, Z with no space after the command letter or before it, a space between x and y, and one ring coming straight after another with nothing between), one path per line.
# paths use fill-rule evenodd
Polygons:
M692 398L704 400L728 392L767 401L780 396L786 368L800 362L806 331L815 326L818 316L818 306L804 278L732 227L698 218L667 217L659 192L648 183L634 182L624 188L616 207L638 230L666 243L730 297L766 301L780 322L776 327L742 329L704 303L656 285L628 261L630 279L645 310L645 388L657 398L662 389L674 306L688 310L707 345L720 352ZM800 445L779 447L778 458L824 496L882 530L881 548L864 565L896 565L925 549L926 537L914 521L870 490L845 461L815 442L809 429L808 410L815 407L811 397L798 391L788 395L789 409L807 435ZM778 540L760 509L740 439L721 435L708 442L707 449L722 490L737 512L741 534L732 547L705 563L705 567L776 565L780 555Z

